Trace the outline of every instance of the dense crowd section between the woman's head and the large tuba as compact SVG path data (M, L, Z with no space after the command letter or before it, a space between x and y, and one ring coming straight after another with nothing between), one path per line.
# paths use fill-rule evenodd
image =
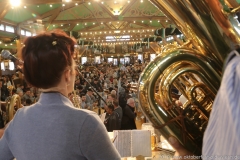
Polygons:
M75 106L104 115L109 132L136 129L138 100L136 93L131 91L131 83L136 82L143 66L139 61L120 66L111 63L84 65L76 76L75 93L69 98ZM80 100L76 102L78 95Z

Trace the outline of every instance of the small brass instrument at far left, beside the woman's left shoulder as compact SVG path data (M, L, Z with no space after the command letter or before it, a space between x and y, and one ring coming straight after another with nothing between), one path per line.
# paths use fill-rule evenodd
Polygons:
M13 119L16 111L21 107L21 98L19 95L14 94L6 99L5 113L3 114L4 125Z

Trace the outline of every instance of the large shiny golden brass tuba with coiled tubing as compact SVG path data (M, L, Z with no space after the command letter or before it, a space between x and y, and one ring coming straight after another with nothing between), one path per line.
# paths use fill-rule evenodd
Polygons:
M203 133L221 83L227 54L240 42L238 8L219 0L150 0L175 24L185 42L164 49L141 73L140 107L166 139L175 136L201 155ZM172 89L185 101L176 105Z

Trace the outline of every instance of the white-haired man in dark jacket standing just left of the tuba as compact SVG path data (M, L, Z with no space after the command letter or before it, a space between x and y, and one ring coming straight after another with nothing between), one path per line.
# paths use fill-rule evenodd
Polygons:
M133 98L129 98L127 100L126 106L123 108L123 117L122 117L122 123L121 123L121 129L122 130L131 130L136 129L135 124L135 101Z

